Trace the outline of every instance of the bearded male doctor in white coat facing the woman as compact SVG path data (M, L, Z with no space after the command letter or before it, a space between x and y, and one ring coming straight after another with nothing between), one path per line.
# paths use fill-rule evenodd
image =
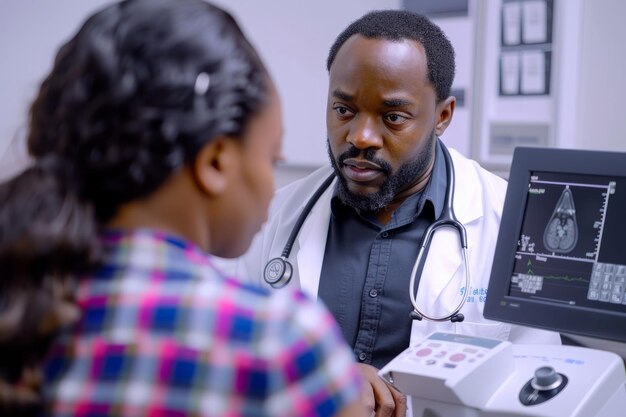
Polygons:
M441 29L406 11L371 12L337 37L327 69L330 166L276 194L238 273L265 282L266 264L280 257L307 201L334 172L294 241L287 285L332 311L368 382L364 401L376 416L406 412L406 398L377 370L434 330L560 343L557 333L483 318L506 182L452 149L453 207L467 230L471 282L464 284L458 235L445 228L435 233L416 288L420 307L433 315L452 311L467 291L465 320L410 318L411 271L424 230L442 212L449 180L438 138L454 114L455 63Z

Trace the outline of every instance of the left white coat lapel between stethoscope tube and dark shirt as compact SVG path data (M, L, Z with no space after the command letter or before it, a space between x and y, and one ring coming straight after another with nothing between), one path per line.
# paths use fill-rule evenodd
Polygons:
M335 183L336 180L313 206L298 234L299 249L296 259L300 288L312 298L317 298L330 221L330 199L335 189Z

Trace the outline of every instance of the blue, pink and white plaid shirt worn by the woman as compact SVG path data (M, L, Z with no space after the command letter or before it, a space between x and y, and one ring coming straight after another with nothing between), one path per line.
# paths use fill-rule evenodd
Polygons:
M303 294L223 276L189 242L102 236L80 323L45 363L54 416L328 416L360 388L330 314Z

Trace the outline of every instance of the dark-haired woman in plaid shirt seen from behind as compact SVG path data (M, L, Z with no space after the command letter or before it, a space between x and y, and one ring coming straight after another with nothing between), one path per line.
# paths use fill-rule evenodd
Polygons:
M31 107L32 165L0 185L0 412L364 415L328 312L214 265L265 221L281 136L276 88L226 12L127 0L91 16Z

